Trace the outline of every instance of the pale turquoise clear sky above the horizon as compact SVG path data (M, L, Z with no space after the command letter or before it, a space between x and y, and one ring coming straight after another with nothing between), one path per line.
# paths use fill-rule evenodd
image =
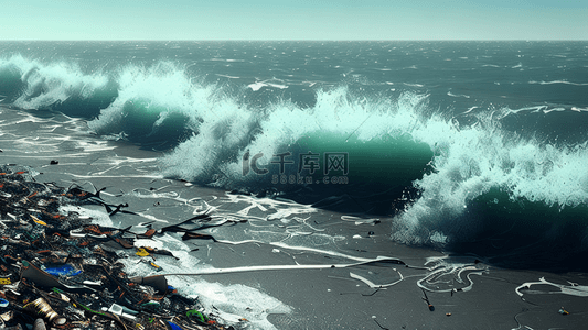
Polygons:
M588 40L588 0L2 0L0 40Z

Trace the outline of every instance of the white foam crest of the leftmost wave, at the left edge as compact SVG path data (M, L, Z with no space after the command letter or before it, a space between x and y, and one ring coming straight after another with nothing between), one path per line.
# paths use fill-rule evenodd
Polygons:
M56 102L64 102L72 96L90 97L97 88L105 87L108 77L99 72L84 74L74 62L43 64L14 55L4 64L12 64L21 72L26 90L13 102L26 109L39 109Z

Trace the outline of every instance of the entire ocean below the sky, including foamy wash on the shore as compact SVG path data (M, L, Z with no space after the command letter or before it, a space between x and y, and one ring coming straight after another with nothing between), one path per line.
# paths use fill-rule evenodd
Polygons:
M163 266L175 273L245 245L270 249L243 267L430 252L417 283L430 293L473 284L462 272L481 264L588 271L587 42L1 42L0 99L2 163L70 183L125 179L105 193L142 215L92 217L179 223L212 209L231 224L204 231L218 241L199 245L205 256L170 235L151 242L182 255ZM404 278L365 272L329 276L372 288ZM237 278L191 290L252 329L318 324L271 321L301 307Z

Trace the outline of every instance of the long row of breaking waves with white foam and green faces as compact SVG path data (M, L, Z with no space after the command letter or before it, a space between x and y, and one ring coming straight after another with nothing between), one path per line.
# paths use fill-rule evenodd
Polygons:
M0 59L3 103L85 117L106 139L169 147L160 160L168 177L310 202L344 196L321 202L396 215L392 238L409 244L487 242L502 256L513 245L550 246L553 258L588 248L586 143L509 132L501 119L513 110L480 105L460 125L415 92L316 86L306 107L260 105L248 100L288 86L202 81L170 62L85 73L66 62ZM531 84L556 82L567 84Z

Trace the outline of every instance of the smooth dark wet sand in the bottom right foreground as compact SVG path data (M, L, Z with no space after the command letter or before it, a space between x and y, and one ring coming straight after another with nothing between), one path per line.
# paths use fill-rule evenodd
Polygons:
M388 248L392 255L414 264L427 256L438 255L428 250L377 242L377 238L373 241L359 245L368 251ZM223 261L213 262L218 266L225 263L255 264L260 260L278 258L271 255L271 249L239 245L235 248L236 251L231 251L220 246L211 251L211 256ZM316 256L313 262L324 263L325 260ZM402 266L397 270L405 276L426 273ZM556 275L489 267L488 274L471 276L474 285L470 292L453 295L427 293L435 307L435 311L430 311L421 298L423 292L416 285L420 276L405 278L392 287L376 290L350 278L349 272L353 270L276 271L216 275L215 279L260 287L270 296L292 306L295 312L270 317L277 329L379 329L376 321L387 329L581 329L588 321L588 297L527 294L524 296L526 301L523 301L515 293L521 284L536 282L539 277L566 285L566 280L586 284L586 274ZM554 290L547 286L532 288ZM570 315L558 314L560 307L565 307Z

